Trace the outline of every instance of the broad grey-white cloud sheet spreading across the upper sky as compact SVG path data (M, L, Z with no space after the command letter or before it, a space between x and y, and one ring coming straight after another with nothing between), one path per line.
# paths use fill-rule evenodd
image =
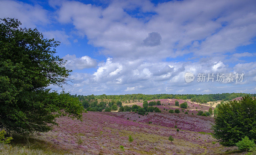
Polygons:
M59 3L58 19L72 23L90 44L102 47L101 53L113 58L159 60L190 52L210 56L248 45L256 36L252 1L170 1L156 6L149 1L143 3L117 0L102 8L63 1ZM156 14L145 22L126 12L138 7L141 14ZM150 37L152 32L157 37Z

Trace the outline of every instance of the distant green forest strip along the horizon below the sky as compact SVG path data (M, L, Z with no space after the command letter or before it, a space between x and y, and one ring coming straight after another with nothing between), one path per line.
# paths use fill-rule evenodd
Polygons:
M154 100L154 99L168 99L168 98L175 98L175 99L191 99L192 102L197 103L206 103L209 101L228 101L234 99L236 97L243 97L243 96L252 96L256 97L256 94L247 94L247 93L222 93L222 94L154 94L154 95L145 95L145 94L125 94L125 95L72 95L72 97L79 98L80 101L89 101L93 102L96 99L107 99L107 100L116 100L121 102L130 102L131 100L137 102L138 100Z

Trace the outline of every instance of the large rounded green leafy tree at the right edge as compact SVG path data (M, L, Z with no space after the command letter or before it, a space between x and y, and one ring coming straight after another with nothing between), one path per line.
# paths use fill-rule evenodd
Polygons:
M213 125L214 137L224 146L234 146L243 137L256 140L256 100L243 97L218 106Z

